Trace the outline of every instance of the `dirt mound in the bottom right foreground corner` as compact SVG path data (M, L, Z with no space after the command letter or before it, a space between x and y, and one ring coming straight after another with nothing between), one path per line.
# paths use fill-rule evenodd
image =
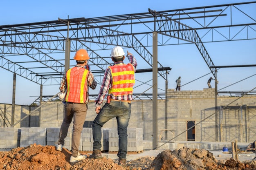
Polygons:
M256 170L256 162L241 163L231 158L223 164L207 150L182 148L163 151L148 170Z

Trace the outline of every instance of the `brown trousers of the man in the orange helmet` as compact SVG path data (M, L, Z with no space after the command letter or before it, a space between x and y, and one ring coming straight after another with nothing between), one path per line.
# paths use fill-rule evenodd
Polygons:
M64 119L61 124L61 130L58 136L58 144L64 145L65 137L67 137L68 128L73 120L72 131L72 156L76 157L79 152L81 132L83 130L83 124L87 113L87 104L69 103L66 102L64 106Z

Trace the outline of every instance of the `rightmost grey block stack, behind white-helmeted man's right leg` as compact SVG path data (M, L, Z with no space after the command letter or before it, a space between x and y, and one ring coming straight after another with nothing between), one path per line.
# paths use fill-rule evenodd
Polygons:
M142 128L128 128L128 152L143 151L143 130ZM109 128L109 151L118 151L118 133L117 128Z

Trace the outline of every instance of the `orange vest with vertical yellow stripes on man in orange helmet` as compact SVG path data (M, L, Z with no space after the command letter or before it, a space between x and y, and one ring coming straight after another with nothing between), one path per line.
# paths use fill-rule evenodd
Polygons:
M87 99L87 78L89 71L82 67L73 67L66 72L66 102L85 103Z

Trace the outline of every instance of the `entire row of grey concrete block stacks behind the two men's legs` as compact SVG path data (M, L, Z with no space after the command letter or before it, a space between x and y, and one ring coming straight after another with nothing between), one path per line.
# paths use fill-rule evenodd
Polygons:
M10 150L17 147L27 147L32 144L55 146L60 128L0 128L0 150ZM101 130L101 151L118 151L117 128ZM69 128L65 138L64 148L71 150L72 128ZM128 128L128 152L142 151L142 128ZM93 150L92 128L83 128L79 150Z

